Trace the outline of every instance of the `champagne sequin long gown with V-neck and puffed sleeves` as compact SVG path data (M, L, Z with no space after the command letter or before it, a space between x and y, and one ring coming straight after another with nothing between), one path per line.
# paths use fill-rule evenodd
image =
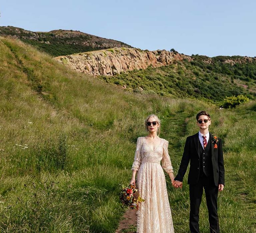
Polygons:
M168 141L161 138L153 150L145 137L139 137L132 165L132 170L138 171L136 185L140 196L145 199L138 205L138 233L174 233L163 169L173 171Z

